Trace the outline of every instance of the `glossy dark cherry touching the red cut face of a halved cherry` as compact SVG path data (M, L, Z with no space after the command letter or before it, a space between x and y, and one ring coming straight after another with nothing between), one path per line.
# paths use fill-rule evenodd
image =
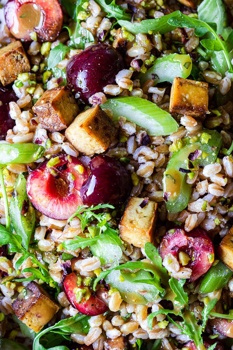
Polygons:
M117 160L99 155L88 163L89 174L80 189L83 204L118 207L129 196L132 184L128 171Z

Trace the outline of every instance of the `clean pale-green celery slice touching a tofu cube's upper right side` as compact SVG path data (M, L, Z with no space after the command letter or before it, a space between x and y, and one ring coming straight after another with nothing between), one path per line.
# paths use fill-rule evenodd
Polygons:
M113 120L118 120L120 116L125 117L126 120L147 129L149 135L170 135L178 128L169 113L140 97L110 98L100 106L102 109L112 110Z

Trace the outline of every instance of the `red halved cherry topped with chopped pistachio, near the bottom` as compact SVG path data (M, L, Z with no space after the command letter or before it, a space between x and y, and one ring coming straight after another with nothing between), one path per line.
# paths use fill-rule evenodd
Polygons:
M108 306L102 300L100 300L94 294L94 292L91 292L89 287L83 285L78 286L77 282L78 276L75 274L75 272L66 275L62 282L64 293L75 309L88 316L97 316L108 310ZM81 289L86 289L86 295L94 295L90 295L89 299L87 300L85 300L85 297L83 297L80 303L79 299L77 301L77 296L78 298L80 296L78 289L80 289L80 291Z

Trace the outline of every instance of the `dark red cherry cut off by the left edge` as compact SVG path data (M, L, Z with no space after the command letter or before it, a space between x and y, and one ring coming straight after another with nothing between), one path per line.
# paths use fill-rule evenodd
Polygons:
M0 87L0 140L5 140L7 130L15 126L15 120L10 118L9 102L18 100L12 88Z

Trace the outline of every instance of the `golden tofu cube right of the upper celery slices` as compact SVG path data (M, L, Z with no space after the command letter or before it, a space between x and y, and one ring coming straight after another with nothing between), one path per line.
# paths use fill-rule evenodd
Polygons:
M169 112L187 114L203 121L208 112L208 84L176 77L172 84Z

